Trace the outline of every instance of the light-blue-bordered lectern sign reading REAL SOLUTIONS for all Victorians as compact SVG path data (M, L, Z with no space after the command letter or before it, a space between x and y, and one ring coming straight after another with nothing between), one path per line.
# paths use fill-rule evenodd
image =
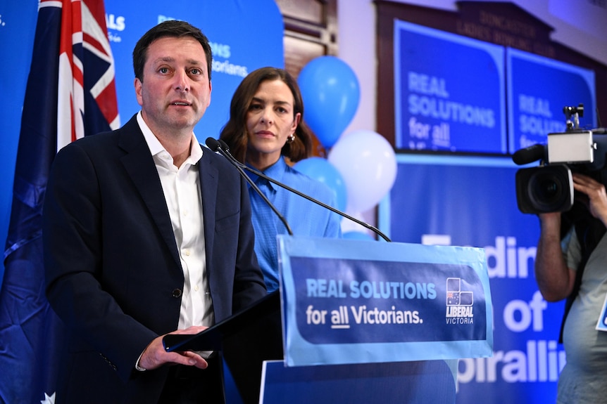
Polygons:
M280 236L287 365L490 356L484 250Z

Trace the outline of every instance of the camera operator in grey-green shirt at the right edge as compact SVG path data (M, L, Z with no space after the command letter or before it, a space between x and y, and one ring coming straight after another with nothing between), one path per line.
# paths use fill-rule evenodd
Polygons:
M607 295L607 193L603 184L582 174L573 174L573 186L587 198L577 197L575 214L567 213L574 220L562 243L561 214L539 215L535 275L544 299L572 302L563 328L567 364L558 379L558 403L602 403L607 333L595 327Z

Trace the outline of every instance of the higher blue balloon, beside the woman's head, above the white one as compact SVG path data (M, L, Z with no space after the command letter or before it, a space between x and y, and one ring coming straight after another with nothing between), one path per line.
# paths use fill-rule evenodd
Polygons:
M318 141L331 148L350 124L361 91L351 67L334 56L320 56L308 62L297 78L304 115Z

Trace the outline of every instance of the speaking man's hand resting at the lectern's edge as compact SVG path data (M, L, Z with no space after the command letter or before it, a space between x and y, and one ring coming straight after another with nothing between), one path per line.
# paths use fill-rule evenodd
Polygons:
M201 331L206 330L208 327L204 326L192 326L185 330L177 330L170 332L169 334L198 334ZM184 351L184 352L167 352L164 349L162 339L164 335L155 338L145 348L141 358L139 358L139 367L143 367L145 370L152 370L166 364L180 364L186 366L196 366L200 369L206 369L208 363L199 354Z

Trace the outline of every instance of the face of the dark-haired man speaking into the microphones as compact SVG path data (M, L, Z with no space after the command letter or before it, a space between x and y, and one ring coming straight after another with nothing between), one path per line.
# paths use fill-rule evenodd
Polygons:
M143 82L135 79L137 102L154 133L193 131L211 103L204 50L192 37L164 37L147 51Z

